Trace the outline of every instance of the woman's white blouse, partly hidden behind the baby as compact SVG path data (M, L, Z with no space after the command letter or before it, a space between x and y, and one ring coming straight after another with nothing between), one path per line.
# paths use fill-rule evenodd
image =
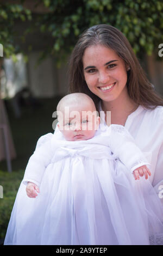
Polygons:
M99 111L102 111L101 104ZM105 122L104 115L101 115L101 121ZM137 146L151 163L152 175L149 176L149 181L159 193L163 185L163 107L146 109L139 106L128 115L124 127L134 137Z

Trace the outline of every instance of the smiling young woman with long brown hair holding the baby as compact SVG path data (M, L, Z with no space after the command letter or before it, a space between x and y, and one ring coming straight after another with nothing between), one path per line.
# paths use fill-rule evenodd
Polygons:
M111 124L126 127L151 163L149 180L163 201L163 100L127 38L110 25L93 26L80 36L69 66L70 92L91 96L99 111L111 111Z

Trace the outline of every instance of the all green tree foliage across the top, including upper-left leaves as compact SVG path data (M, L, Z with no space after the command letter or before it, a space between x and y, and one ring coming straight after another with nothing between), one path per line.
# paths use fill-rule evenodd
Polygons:
M117 27L127 36L136 54L158 53L163 42L162 0L34 0L44 4L48 13L38 15L32 30L39 29L52 37L53 46L43 49L45 54L54 54L60 59L70 53L79 35L87 28L100 23ZM32 19L29 10L18 4L1 4L0 42L5 45L5 54L13 49L15 19Z

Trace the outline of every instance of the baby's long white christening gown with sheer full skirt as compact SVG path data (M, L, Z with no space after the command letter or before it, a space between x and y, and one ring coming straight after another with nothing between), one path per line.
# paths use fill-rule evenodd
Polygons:
M4 245L161 245L162 206L133 170L147 159L121 125L87 141L56 130L37 142L18 190ZM39 185L36 198L27 181Z

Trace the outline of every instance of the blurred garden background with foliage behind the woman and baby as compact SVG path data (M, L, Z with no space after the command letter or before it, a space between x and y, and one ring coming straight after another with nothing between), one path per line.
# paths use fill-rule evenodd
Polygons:
M85 29L100 23L127 36L163 95L161 0L0 2L0 244L37 139L54 132L52 114L67 93L71 51Z

